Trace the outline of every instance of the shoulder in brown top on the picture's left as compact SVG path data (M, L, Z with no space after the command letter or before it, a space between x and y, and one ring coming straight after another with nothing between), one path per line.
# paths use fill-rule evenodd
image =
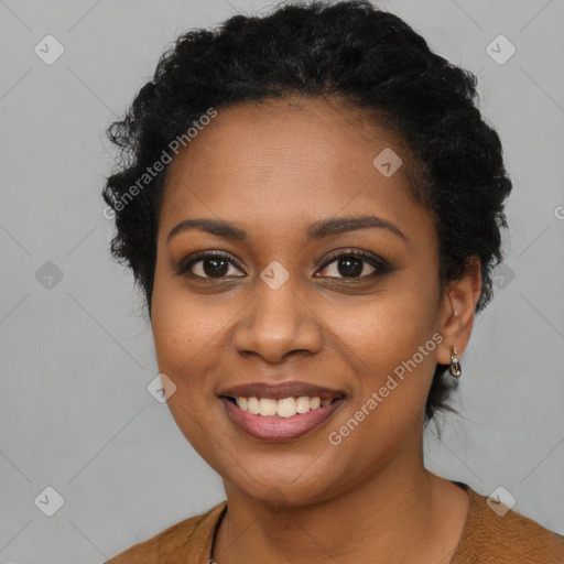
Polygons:
M120 552L106 564L155 564L187 562L186 556L205 551L227 502L169 527L147 541Z

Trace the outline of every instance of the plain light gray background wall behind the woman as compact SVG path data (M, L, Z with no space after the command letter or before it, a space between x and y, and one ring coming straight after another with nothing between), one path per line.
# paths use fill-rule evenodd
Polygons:
M150 325L108 251L104 130L177 34L269 6L0 0L3 563L99 563L224 499L147 391ZM478 74L514 183L507 265L463 357L462 416L444 417L441 441L429 431L426 464L484 495L502 485L516 510L564 533L564 2L380 6ZM65 48L52 65L34 53L47 34ZM486 52L499 34L517 47L502 65ZM46 486L65 501L51 518L34 503Z

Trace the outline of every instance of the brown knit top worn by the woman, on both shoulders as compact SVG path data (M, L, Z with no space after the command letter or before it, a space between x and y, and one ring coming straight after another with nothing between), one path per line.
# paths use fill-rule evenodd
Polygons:
M451 564L564 564L564 536L512 510L498 516L469 486L470 503ZM135 544L106 564L208 564L227 501ZM500 512L500 511L498 511ZM220 563L219 563L220 564Z

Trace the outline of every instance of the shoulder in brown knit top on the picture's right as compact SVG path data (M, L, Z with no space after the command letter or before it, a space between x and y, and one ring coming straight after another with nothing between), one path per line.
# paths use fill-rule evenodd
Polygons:
M470 507L453 564L564 564L564 536L466 488Z

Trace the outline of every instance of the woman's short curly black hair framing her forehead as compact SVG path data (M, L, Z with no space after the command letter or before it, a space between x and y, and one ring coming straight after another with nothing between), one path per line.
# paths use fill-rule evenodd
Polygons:
M188 31L161 56L124 118L108 128L119 148L102 191L105 212L116 221L111 253L133 271L151 316L167 164L149 175L151 165L163 162L170 144L210 108L293 95L335 97L404 140L417 163L410 169L413 195L436 226L441 291L478 257L479 312L491 299L491 270L502 259L511 181L500 139L475 106L476 84L473 73L432 53L409 24L367 0L283 2L261 18L237 14L215 30ZM445 370L436 366L425 421L437 409L453 411Z

